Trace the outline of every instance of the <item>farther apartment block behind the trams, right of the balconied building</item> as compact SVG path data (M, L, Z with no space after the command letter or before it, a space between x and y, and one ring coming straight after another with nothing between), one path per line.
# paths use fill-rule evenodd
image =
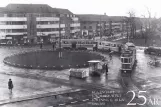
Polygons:
M78 15L82 36L109 36L126 30L125 17L81 14Z

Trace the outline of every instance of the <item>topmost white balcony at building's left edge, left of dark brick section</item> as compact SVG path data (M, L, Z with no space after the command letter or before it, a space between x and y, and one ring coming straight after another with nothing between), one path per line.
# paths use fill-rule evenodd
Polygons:
M26 17L0 17L0 21L27 21Z

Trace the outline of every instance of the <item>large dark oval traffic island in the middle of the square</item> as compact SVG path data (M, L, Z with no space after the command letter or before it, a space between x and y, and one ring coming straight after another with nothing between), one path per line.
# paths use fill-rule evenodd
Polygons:
M21 68L62 70L88 67L87 61L101 59L101 55L88 51L62 51L62 58L58 51L33 51L11 55L3 62Z

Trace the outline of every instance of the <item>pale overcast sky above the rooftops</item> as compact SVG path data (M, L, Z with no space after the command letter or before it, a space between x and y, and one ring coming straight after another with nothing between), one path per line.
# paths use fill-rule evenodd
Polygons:
M75 14L104 14L109 16L127 16L135 11L136 16L161 17L161 0L1 0L0 6L9 3L49 4L51 7L66 8Z

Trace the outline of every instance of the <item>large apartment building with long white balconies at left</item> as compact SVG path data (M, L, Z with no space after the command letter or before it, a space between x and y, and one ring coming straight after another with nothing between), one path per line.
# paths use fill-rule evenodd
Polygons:
M8 4L0 8L0 43L51 43L79 31L79 19L68 9L46 4Z

